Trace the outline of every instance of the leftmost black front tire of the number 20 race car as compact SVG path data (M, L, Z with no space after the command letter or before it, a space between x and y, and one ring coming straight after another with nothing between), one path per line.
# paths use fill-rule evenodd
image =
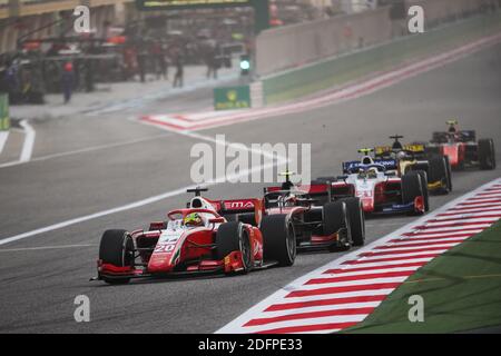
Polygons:
M106 230L99 244L99 259L104 264L116 267L132 267L134 241L130 235L126 230ZM102 280L111 285L118 285L129 283L130 278L102 277Z

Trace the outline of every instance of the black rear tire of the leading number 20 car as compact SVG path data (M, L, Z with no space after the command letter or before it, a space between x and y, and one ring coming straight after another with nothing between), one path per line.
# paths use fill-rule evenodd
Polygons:
M278 266L292 266L296 259L296 235L287 215L268 215L261 221L265 260L275 260Z

